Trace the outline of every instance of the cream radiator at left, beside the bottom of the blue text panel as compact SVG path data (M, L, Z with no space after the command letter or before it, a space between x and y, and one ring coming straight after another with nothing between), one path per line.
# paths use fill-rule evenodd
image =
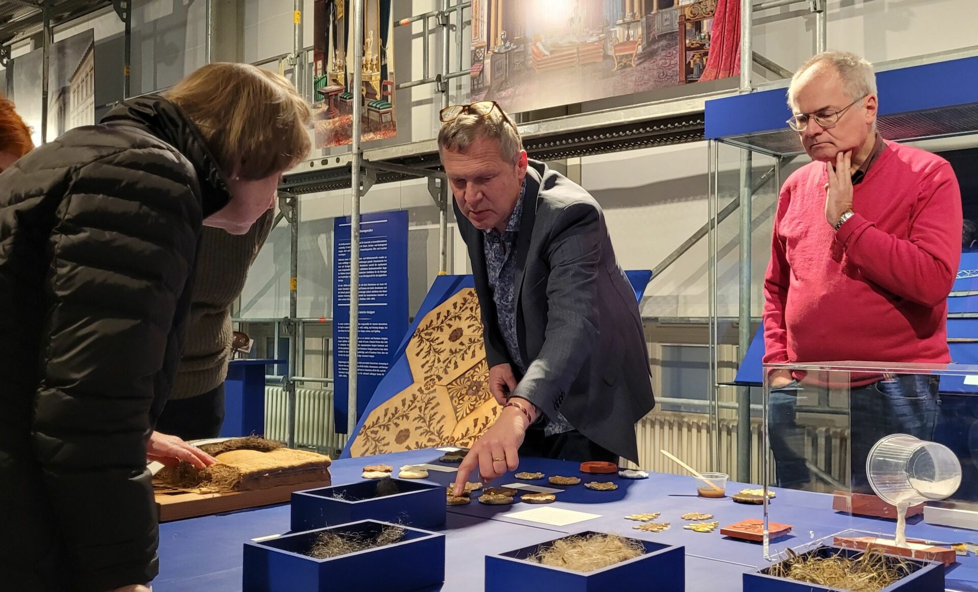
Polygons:
M289 437L289 395L283 387L265 387L265 435ZM295 389L295 445L334 455L346 445L346 434L333 426L333 390Z

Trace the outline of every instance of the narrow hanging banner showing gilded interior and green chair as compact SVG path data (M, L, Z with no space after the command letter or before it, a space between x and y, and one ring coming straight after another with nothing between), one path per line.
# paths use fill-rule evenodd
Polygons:
M353 88L353 10L350 0L315 0L313 94L316 148L349 144L353 101L363 103L364 141L397 135L391 0L364 2L363 84Z

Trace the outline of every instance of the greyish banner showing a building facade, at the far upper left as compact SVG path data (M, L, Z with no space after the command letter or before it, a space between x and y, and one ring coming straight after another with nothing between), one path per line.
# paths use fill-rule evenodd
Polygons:
M43 49L12 60L9 97L41 144ZM95 123L95 31L88 29L51 44L48 59L48 142L67 130Z

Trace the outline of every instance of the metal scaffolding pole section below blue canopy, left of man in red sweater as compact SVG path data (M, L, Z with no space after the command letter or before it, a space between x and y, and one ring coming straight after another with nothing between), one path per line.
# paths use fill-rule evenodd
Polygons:
M737 353L740 361L750 346L750 259L753 233L753 153L740 154L740 270ZM750 387L737 388L736 473L737 480L750 482Z

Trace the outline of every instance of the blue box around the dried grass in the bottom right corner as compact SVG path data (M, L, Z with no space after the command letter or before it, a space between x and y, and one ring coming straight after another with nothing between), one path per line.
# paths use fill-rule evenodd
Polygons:
M843 547L822 546L817 549L800 553L799 555L817 555L828 558L833 555L843 555L854 557L864 553L858 549L846 549ZM890 557L890 556L887 556ZM944 591L944 565L939 562L927 562L906 557L894 557L905 561L912 566L911 574L904 577L897 583L887 586L880 592L943 592ZM812 584L808 582L796 581L769 575L771 568L761 569L753 573L743 574L744 592L833 592L835 588Z

